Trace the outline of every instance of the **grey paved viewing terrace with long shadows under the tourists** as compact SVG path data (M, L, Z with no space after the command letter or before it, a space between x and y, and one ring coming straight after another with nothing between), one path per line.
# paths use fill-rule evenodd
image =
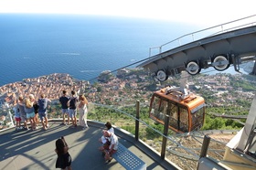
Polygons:
M85 131L81 127L72 129L60 125L59 121L50 121L47 131L39 128L36 131L15 132L12 128L0 132L0 169L56 169L55 141L62 135L69 144L73 170L124 169L115 159L111 163L105 163L98 151L101 145L98 139L104 124L91 121L88 123L90 127ZM176 166L162 160L144 143L136 142L130 134L118 128L115 128L115 133L120 143L146 163L147 169L176 169Z

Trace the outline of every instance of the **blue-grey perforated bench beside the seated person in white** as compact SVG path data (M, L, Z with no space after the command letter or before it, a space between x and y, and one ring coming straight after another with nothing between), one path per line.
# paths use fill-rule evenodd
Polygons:
M118 150L112 157L125 169L146 169L146 164L135 154L129 151L122 143L118 143Z

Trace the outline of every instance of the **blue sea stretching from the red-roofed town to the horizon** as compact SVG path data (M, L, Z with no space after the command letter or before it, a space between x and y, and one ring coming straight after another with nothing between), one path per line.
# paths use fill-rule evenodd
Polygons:
M1 14L0 86L51 73L93 80L198 29L128 17Z

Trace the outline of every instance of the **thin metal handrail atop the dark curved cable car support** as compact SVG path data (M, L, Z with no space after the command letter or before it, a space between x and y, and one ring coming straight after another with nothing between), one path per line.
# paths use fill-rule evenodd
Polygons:
M242 17L240 19L236 19L227 23L214 26L214 27L208 27L192 33L188 33L181 37L176 37L175 39L169 42L166 42L165 44L162 44L160 46L149 48L149 58L157 54L160 54L162 52L165 52L169 49L177 48L179 46L185 45L187 43L196 41L204 37L216 36L218 34L229 32L231 30L236 30L243 27L255 26L255 24L256 24L256 15L252 15L252 16Z

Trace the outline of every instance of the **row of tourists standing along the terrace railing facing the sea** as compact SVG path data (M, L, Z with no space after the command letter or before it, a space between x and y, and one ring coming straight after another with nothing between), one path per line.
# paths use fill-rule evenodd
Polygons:
M61 104L61 112L63 116L63 122L61 124L71 124L71 128L77 127L77 111L80 112L79 125L85 130L88 128L87 124L87 105L88 101L85 96L80 92L79 97L76 96L74 90L71 91L71 97L67 96L67 91L62 91L62 96L59 98ZM33 94L29 94L26 98L23 95L18 96L18 100L15 101L13 110L15 112L16 131L19 129L28 128L30 123L31 130L34 131L38 128L39 120L44 130L48 129L48 103L51 102L46 98L45 94L40 94L40 98L37 100ZM66 123L66 115L68 116L68 122ZM71 121L71 123L70 123ZM24 126L21 126L21 122Z

